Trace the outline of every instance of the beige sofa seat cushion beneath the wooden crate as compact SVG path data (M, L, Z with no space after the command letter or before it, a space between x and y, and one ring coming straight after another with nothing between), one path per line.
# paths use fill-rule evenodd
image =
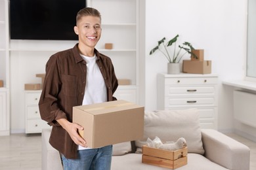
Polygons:
M141 154L127 154L124 156L112 156L111 170L166 170L167 168L142 163ZM188 164L178 168L179 170L228 170L213 161L207 160L200 154L188 154Z

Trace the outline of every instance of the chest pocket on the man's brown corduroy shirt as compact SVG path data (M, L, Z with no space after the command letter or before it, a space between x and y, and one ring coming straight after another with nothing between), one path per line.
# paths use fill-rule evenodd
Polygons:
M66 96L76 96L77 76L62 75L62 90Z

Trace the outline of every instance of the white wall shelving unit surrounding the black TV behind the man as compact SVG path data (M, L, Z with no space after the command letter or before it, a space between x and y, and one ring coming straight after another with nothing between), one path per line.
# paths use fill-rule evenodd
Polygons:
M114 96L139 103L139 0L87 0L87 6L95 7L102 14L102 37L96 49L112 59L118 79L131 80L130 85L119 86ZM0 79L5 80L7 98L9 91L12 92L11 114L17 118L12 120L12 129L24 127L26 131L24 84L41 82L35 74L45 73L49 57L72 48L77 41L10 40L8 9L8 0L0 0ZM106 50L105 43L113 43L113 49ZM8 105L9 102L7 110ZM22 118L24 122L20 123Z

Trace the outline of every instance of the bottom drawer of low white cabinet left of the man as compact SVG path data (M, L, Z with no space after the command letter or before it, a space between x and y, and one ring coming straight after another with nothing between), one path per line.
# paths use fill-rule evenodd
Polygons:
M50 126L41 119L27 120L26 133L41 133L42 129L50 128Z

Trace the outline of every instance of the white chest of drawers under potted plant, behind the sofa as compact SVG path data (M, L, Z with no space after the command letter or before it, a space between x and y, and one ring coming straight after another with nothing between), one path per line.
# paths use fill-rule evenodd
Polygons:
M200 126L217 129L217 75L158 74L158 109L200 111Z

